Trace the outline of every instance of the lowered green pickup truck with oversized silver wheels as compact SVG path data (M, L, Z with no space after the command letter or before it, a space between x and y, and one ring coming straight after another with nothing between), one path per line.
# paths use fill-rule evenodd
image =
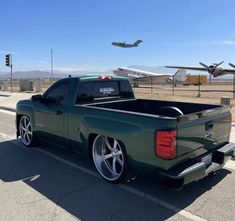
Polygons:
M177 188L215 173L234 155L231 125L228 106L136 99L119 76L61 79L19 101L16 113L25 146L47 140L87 154L112 183L142 168Z

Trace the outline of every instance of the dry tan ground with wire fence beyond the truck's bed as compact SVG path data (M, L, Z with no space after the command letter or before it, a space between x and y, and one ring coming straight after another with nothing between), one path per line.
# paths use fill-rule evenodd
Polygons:
M177 85L174 88L171 85L139 85L134 88L137 98L152 100L171 100L193 103L220 104L221 97L230 98L230 107L233 116L235 116L235 99L233 99L233 85L230 83L213 83L200 86L182 86Z

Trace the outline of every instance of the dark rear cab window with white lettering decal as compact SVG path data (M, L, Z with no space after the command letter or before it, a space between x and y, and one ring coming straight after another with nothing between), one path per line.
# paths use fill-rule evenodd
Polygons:
M128 81L89 81L79 86L77 103L107 97L133 97Z

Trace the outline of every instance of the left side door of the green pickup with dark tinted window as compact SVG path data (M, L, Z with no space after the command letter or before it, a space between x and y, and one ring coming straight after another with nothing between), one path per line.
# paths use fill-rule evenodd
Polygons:
M39 136L53 143L64 144L66 102L70 81L65 79L55 83L44 95L41 102L35 103L35 128Z

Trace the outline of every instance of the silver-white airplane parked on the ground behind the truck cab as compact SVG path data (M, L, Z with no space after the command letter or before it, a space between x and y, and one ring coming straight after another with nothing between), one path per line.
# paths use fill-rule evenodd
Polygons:
M160 74L160 73L154 73L149 71L143 71L139 69L134 68L118 68L117 70L113 71L113 74L125 76L128 78L128 80L133 84L134 86L138 86L138 84L135 81L135 79L138 78L146 78L146 77L154 77L159 78L158 81L160 83L184 83L186 82L186 71L184 69L178 70L175 74Z

